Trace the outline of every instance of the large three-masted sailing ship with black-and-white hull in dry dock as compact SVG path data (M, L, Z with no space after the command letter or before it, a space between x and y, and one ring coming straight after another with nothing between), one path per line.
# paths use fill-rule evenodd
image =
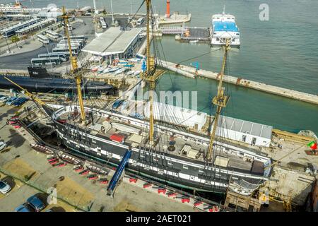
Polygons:
M225 192L230 186L241 194L251 194L269 178L271 160L216 137L222 109L229 100L223 87L229 43L225 46L218 93L212 100L216 114L209 136L163 124L153 116L155 83L164 71L159 69L158 59L151 54L151 0L146 0L146 12L146 70L141 78L149 89L148 120L110 109L85 107L81 72L69 41L78 103L52 110L40 102L52 118L57 136L74 152L114 167L120 164L126 151L131 150L126 170L163 184L209 192ZM63 18L67 24L65 11ZM67 29L65 33L69 37ZM33 99L36 100L34 96Z

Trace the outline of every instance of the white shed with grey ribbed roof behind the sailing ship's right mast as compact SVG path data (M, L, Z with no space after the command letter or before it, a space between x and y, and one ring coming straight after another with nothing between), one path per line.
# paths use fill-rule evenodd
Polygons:
M216 135L251 145L269 147L272 130L272 126L221 116Z

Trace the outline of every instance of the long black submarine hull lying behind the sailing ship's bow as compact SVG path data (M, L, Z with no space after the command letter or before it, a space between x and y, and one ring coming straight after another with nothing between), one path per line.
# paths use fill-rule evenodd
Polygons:
M21 85L30 92L35 93L64 93L69 90L76 90L76 83L73 79L64 78L30 78L28 76L6 76L11 81ZM16 85L0 76L1 89L16 89ZM87 81L83 85L83 92L88 94L114 94L116 90L112 85L102 82Z

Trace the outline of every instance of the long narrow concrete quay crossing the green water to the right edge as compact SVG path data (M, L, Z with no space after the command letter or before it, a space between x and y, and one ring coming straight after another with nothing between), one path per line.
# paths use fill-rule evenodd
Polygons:
M170 63L170 62L164 62L163 67L165 67L165 69L168 69L168 70L174 68L172 71L175 71L176 73L180 73L182 75L184 75L184 73L187 73L187 77L190 77L190 78L191 78L190 74L192 74L194 75L194 77L199 76L204 78L210 78L213 80L219 80L219 74L212 71L206 71L202 69L196 71L196 69L190 66L184 66L184 65L179 65L176 68L176 64ZM300 100L303 102L308 102L314 105L318 105L318 95L312 95L310 93L302 93L300 91L290 90L290 89L281 88L274 85L268 85L265 83L259 83L255 81L249 81L247 79L237 78L234 76L224 76L224 81L225 83L240 85L245 88L251 88L251 89L259 90L265 93L280 95L283 97L288 97L293 100Z

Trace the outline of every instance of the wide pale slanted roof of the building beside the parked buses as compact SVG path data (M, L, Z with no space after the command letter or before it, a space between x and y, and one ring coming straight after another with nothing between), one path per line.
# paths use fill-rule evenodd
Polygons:
M126 52L131 42L141 32L141 28L131 28L131 30L120 30L120 28L109 28L96 37L83 49L83 52L89 52L100 56L110 54L120 54Z

